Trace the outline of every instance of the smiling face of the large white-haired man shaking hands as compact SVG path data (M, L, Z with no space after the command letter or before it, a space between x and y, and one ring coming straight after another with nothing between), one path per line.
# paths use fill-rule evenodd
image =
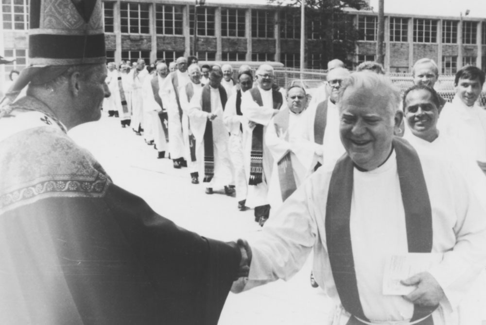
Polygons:
M353 162L373 170L386 161L403 113L390 108L390 97L374 89L348 87L340 102L341 141Z

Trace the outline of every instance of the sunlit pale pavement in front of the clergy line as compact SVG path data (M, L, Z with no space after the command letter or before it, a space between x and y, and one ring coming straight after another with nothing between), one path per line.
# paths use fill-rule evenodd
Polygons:
M222 241L249 238L261 229L253 210L239 211L236 198L223 191L205 194L204 184L191 184L187 168L174 169L171 160L157 159L157 151L145 143L143 135L121 128L116 117L102 114L100 121L80 125L69 135L96 157L117 185L144 198L157 213L181 227ZM326 324L331 304L322 289L311 287L311 266L312 254L288 281L230 292L218 324Z

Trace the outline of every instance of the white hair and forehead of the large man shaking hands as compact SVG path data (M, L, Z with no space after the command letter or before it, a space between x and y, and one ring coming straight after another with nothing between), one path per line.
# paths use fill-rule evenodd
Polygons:
M373 72L355 72L341 86L338 105L342 112L347 106L370 106L394 114L399 108L400 92L392 81Z

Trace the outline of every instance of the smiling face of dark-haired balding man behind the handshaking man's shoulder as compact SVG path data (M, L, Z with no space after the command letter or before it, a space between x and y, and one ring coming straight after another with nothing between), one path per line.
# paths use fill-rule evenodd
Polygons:
M428 142L437 138L439 109L434 104L429 91L416 89L409 92L405 97L403 110L407 125L415 136Z

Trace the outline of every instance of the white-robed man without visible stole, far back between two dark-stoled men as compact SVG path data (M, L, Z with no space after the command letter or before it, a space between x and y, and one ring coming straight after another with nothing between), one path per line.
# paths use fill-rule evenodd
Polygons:
M141 135L140 132L143 130L143 82L148 75L149 72L145 68L143 59L137 60L137 65L128 75L132 90L132 121L130 125L137 135Z

